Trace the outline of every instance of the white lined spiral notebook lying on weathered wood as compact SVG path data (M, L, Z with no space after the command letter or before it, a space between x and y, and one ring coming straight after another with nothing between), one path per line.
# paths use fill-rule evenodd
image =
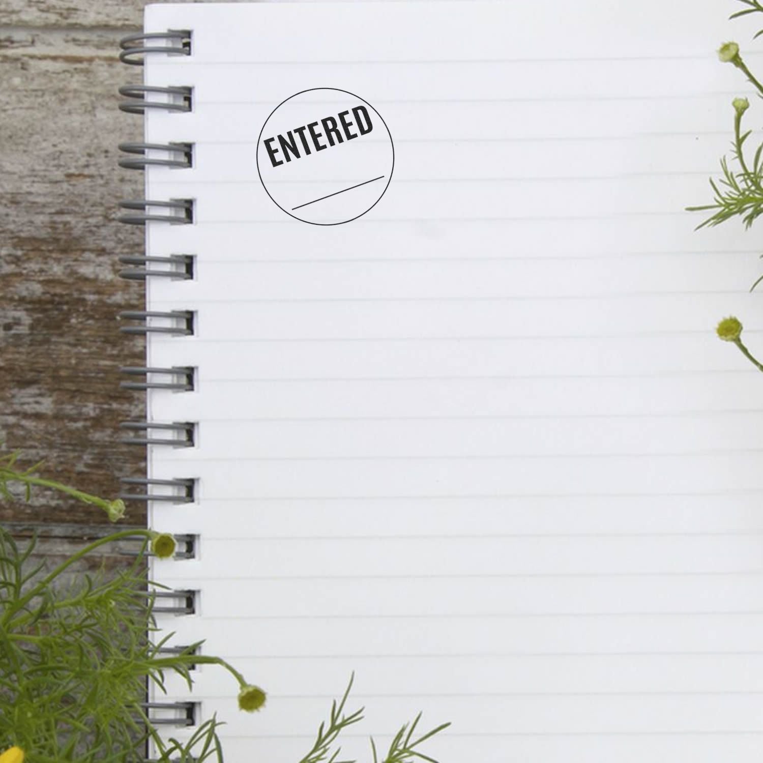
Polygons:
M684 211L726 5L146 8L127 494L185 541L171 643L269 694L202 665L168 736L296 763L354 671L339 759L420 710L442 763L759 759L761 378L714 333L759 340L758 250Z

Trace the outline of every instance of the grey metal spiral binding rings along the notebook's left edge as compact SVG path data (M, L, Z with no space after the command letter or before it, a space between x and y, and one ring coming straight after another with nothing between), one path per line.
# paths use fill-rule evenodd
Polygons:
M192 54L192 33L188 30L170 29L166 32L130 34L120 41L122 62L133 66L143 66L146 56L190 56ZM125 100L119 108L129 114L145 114L148 110L174 111L178 113L192 111L192 88L185 85L125 85L119 89ZM159 166L172 169L188 169L193 164L192 143L121 143L119 149L123 156L119 166L124 169L145 170ZM192 199L135 199L121 201L120 207L127 210L118 220L128 225L146 223L187 225L194 221L194 202ZM172 278L188 280L194 276L194 258L191 255L173 254L165 256L122 256L120 262L128 266L119 275L131 281L146 281L148 278ZM193 311L124 311L118 316L121 320L134 321L132 325L121 326L122 333L147 336L169 334L172 336L192 336L194 333ZM121 372L129 377L122 381L123 389L134 391L166 390L167 394L192 391L195 382L195 369L190 366L160 368L153 366L125 366ZM165 393L159 393L165 394ZM188 448L194 445L195 423L173 422L153 423L151 421L127 421L120 424L127 435L123 443L137 446L170 446ZM158 435L157 432L163 435ZM162 504L188 504L195 501L195 479L173 478L122 478L124 492L120 498L124 501L157 501ZM134 491L134 492L133 492ZM198 539L193 535L175 536L179 550L175 559L193 559L196 555ZM198 591L151 591L153 613L190 615L195 613ZM156 604L159 603L159 606ZM178 654L189 649L188 646L161 647L159 652ZM189 669L193 668L191 665ZM146 700L149 699L149 687L146 683ZM198 715L198 704L194 702L148 702L143 703L150 723L159 726L194 726ZM167 716L167 712L171 713ZM163 713L157 715L156 713ZM144 752L146 763L151 763L148 742Z

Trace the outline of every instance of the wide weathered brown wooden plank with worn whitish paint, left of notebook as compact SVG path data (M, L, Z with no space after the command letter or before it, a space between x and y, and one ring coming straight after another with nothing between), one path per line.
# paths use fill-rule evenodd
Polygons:
M116 275L118 255L143 252L142 230L115 219L143 181L117 166L119 140L141 134L140 118L117 108L118 85L141 74L118 62L119 36L0 35L0 442L27 463L47 459L46 476L107 497L120 476L144 470L142 449L118 443L119 422L144 416L118 373L144 356L116 320L143 305L142 285ZM44 512L0 504L0 521L106 521L97 508L40 498ZM140 503L129 507L131 523L144 517Z

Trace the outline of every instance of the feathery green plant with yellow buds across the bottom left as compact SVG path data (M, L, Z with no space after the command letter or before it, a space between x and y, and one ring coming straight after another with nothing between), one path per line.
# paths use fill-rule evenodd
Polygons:
M112 522L124 516L122 501L108 501L37 475L40 464L20 469L18 453L0 457L0 497L13 499L11 488L21 487L26 500L32 488L50 488L86 504L100 507ZM84 575L69 588L62 575L80 559L107 543L125 538L142 540L129 568L106 579L103 570ZM238 705L255 711L266 694L249 684L222 658L197 653L200 641L181 654L159 651L172 637L160 637L153 618L155 588L166 588L147 578L146 556L170 559L175 539L153 530L124 530L98 539L69 556L53 571L44 562L32 568L36 534L22 551L0 526L0 751L13 746L13 755L26 755L30 763L137 763L143 745L153 739L159 761L223 761L215 717L196 729L185 744L163 741L141 703L146 679L165 690L164 673L182 676L192 691L193 665L214 664L238 682ZM40 572L43 575L40 576ZM57 585L56 585L57 584ZM156 638L152 640L151 636ZM342 700L331 707L328 725L321 723L317 740L301 763L340 763L340 749L330 753L340 732L362 720L362 708L346 715L349 685ZM391 742L382 763L410 763L415 759L436 763L419 752L418 745L442 731L443 723L414 739L421 714L405 724ZM379 763L371 740L374 763ZM354 761L343 761L354 763Z

